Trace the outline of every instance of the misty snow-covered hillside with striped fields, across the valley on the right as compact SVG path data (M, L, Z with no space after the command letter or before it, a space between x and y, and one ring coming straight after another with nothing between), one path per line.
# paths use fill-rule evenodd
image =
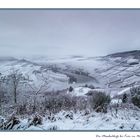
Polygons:
M127 87L140 84L140 51L130 51L115 53L103 57L73 56L66 58L40 58L36 63L43 62L55 66L66 74L66 72L76 73L82 71L88 74L93 80L87 80L96 87L109 90L112 94L124 90ZM82 78L84 81L86 78ZM84 81L85 82L85 81ZM83 82L83 83L84 83ZM82 83L82 82L80 82ZM85 82L86 83L86 82ZM82 84L80 84L81 86Z

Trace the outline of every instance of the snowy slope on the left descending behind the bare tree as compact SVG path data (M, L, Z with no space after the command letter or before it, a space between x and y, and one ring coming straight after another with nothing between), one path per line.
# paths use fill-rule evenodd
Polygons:
M68 85L67 75L42 68L40 64L25 59L0 59L0 73L2 75L8 75L14 70L18 70L25 77L29 76L30 81L36 86L43 83L43 77L48 79L50 89L63 89Z

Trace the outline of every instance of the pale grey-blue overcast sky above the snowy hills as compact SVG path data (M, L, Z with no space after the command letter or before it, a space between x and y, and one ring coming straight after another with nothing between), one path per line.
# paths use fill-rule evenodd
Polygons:
M0 55L100 56L140 49L140 10L0 10Z

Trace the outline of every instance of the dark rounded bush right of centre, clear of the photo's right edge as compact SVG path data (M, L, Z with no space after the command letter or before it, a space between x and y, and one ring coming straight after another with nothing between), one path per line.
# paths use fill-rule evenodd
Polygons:
M90 91L91 106L96 112L107 113L107 107L111 101L110 96L101 91Z

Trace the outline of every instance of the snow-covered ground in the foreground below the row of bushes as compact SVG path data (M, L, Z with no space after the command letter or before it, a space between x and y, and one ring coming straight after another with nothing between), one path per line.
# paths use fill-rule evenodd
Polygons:
M62 111L51 119L43 117L42 124L39 125L30 125L30 118L20 119L20 123L9 130L140 130L140 110L127 108L120 109L117 115L115 111L106 114Z

